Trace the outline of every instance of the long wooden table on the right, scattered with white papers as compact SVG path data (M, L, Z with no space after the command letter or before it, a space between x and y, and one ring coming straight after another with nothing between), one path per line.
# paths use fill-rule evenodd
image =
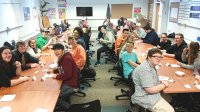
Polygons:
M149 49L154 46L142 42L136 42L135 45L137 48L135 52L137 53L139 60L144 61L147 56ZM159 66L158 75L166 76L169 79L174 80L174 82L169 84L169 87L163 90L164 93L192 93L200 92L200 89L195 87L195 78L192 75L192 70L184 69L182 67L171 67L166 64L177 64L177 61L174 58L164 57L161 61L161 66ZM178 76L175 74L176 71L182 71L185 73L185 76ZM191 88L186 88L185 85L189 85Z

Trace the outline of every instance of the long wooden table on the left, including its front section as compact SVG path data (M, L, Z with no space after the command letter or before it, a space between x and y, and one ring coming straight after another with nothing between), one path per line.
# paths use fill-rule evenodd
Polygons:
M13 101L0 102L0 108L10 106L12 112L34 112L37 108L44 108L49 112L53 112L62 81L53 78L41 80L46 74L49 65L56 62L56 57L52 50L46 50L43 53L46 53L40 57L41 61L46 62L43 67L38 66L25 70L20 74L21 76L30 76L29 81L9 88L0 88L0 98L3 95L16 94ZM32 80L33 76L37 78L34 81Z

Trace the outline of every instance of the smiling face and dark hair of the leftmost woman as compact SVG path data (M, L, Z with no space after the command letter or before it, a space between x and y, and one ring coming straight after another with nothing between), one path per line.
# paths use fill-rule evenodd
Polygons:
M9 47L3 46L0 48L0 60L9 63L12 60L12 51Z

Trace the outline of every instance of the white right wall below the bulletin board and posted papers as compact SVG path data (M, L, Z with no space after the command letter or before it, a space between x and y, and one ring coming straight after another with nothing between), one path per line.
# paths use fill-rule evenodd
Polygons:
M180 0L170 0L170 2L180 2ZM168 20L167 33L172 32L183 33L187 42L197 41L197 37L200 37L200 29L169 22Z

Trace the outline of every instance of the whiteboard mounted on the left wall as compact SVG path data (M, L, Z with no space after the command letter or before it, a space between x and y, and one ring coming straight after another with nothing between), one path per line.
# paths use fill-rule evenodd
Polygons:
M0 32L22 26L21 3L0 3Z

